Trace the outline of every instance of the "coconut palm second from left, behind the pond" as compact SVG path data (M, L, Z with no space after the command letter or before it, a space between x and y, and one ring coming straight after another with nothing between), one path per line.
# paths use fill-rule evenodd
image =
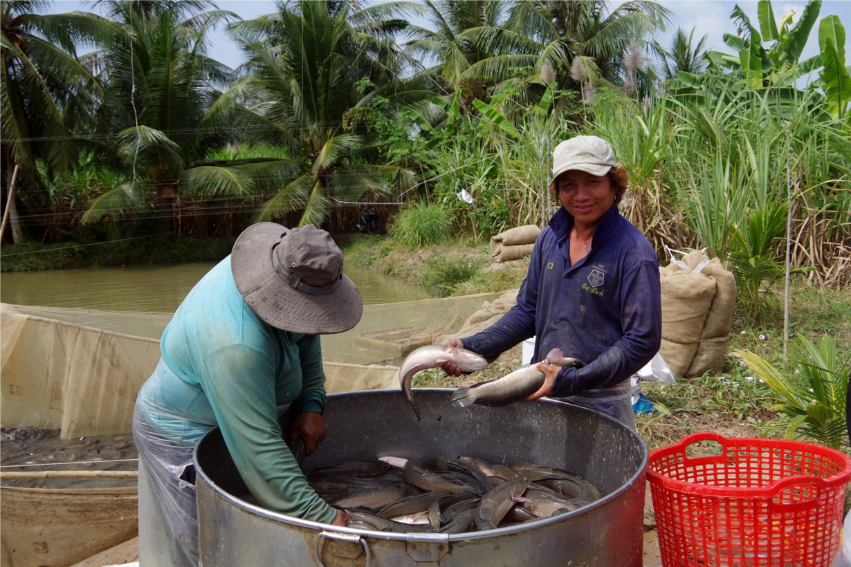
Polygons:
M81 14L115 29L83 58L106 86L97 100L95 137L109 166L129 182L95 199L83 222L138 207L151 199L172 207L184 193L248 196L251 180L229 167L197 166L205 152L226 145L238 108L217 105L233 71L206 54L207 35L236 14L207 0L102 0L106 16ZM92 38L91 41L95 41ZM104 139L108 141L103 141Z

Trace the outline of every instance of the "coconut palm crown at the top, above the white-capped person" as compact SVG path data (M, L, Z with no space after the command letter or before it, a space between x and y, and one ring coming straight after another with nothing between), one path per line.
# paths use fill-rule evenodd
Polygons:
M650 0L630 0L608 14L606 8L605 0L518 0L505 26L461 34L494 52L471 65L465 77L534 82L548 63L559 88L619 83L630 43L664 30L671 12ZM517 72L523 69L528 71Z

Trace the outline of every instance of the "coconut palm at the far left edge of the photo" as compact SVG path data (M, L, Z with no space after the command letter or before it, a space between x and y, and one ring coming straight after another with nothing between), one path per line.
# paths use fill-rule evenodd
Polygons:
M72 14L37 14L48 5L45 0L0 0L0 150L7 190L16 165L17 184L37 188L37 159L60 171L77 161L79 146L71 127L84 116L77 102L92 77L76 59L81 27ZM31 201L43 197L38 190L29 193ZM22 240L14 200L9 220L13 240Z

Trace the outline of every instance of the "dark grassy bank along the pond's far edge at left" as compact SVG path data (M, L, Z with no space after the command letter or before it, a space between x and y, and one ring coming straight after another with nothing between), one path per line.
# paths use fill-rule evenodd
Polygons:
M40 244L26 242L0 248L0 272L31 269L89 268L132 264L218 262L231 253L235 238L195 239L153 235L134 240Z

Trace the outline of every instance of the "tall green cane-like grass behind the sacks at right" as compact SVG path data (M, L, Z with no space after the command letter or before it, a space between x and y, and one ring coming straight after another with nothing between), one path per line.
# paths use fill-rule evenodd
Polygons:
M776 217L791 193L785 210L792 216L793 267L814 268L809 277L820 286L851 281L842 244L851 236L851 142L817 94L780 99L770 90L724 87L645 105L617 94L599 101L588 131L612 143L626 167L631 188L623 213L660 258L667 244L708 247L722 260L750 263L737 275L749 284L744 291L755 313L754 301L785 252L785 230L778 230L784 223Z

